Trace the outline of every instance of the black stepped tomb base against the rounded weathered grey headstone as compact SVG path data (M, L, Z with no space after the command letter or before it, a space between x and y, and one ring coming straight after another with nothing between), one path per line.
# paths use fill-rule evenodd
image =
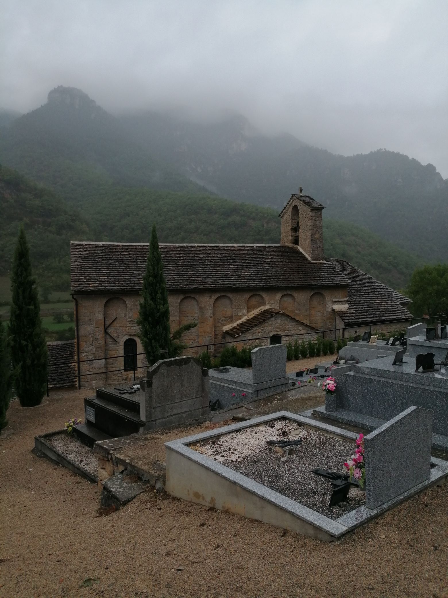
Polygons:
M85 398L84 409L86 422L112 438L136 434L145 426L139 414L97 396Z

